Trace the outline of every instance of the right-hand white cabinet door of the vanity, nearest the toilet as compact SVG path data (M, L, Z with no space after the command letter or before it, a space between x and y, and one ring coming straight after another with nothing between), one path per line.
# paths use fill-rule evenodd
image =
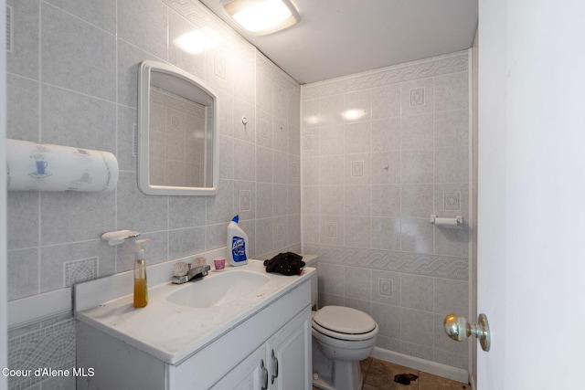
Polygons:
M275 333L267 343L271 390L310 390L311 309L301 311L293 321Z

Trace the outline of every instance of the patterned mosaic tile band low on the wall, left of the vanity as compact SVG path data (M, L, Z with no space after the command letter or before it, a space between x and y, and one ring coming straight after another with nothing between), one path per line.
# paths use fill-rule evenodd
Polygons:
M35 376L37 368L69 369L75 367L75 320L58 321L37 331L8 340L8 367L32 370L31 376L8 377L11 390L26 389L47 376Z

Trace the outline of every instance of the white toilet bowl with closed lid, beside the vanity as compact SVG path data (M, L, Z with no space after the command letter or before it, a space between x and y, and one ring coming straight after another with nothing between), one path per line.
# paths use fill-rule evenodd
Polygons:
M325 306L314 312L312 328L313 385L325 390L361 389L359 361L374 349L376 321L363 311Z

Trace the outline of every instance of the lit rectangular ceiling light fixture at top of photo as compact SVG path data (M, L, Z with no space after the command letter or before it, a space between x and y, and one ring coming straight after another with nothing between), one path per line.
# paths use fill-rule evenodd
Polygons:
M271 34L301 20L291 0L221 0L221 5L255 36Z

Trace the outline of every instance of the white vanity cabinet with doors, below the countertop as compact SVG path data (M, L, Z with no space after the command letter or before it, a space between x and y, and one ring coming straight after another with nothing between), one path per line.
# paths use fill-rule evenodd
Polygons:
M78 321L77 337L77 366L93 367L95 372L93 377L78 378L78 389L312 388L309 279L177 363L165 362L147 346L125 343L84 321Z

